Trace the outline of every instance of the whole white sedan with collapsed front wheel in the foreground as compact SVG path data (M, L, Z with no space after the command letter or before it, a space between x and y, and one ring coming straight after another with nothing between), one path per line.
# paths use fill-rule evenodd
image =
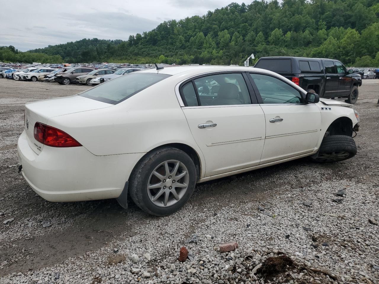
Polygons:
M28 103L19 170L49 201L117 198L180 209L195 184L310 156L349 159L359 116L277 73L146 69L78 95Z

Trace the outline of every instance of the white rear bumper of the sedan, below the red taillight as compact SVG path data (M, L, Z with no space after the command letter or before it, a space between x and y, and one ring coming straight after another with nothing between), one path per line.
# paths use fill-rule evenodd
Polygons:
M36 154L25 131L17 144L22 175L42 198L52 202L117 198L143 153L95 156L85 147L44 146Z

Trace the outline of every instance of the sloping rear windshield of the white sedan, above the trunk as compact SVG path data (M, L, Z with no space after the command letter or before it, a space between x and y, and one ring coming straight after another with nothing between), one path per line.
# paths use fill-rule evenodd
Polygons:
M116 105L169 76L171 75L133 72L102 83L79 95Z

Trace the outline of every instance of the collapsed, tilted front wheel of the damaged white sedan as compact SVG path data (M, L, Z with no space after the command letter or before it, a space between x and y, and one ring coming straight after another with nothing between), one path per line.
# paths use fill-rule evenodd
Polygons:
M320 150L316 158L311 158L315 162L330 163L350 159L357 154L357 147L354 139L345 135L325 136L321 142Z

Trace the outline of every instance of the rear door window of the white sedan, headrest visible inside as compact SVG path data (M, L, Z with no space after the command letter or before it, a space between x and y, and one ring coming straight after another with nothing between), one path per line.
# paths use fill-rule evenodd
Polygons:
M215 74L194 80L200 105L249 105L251 98L241 73Z

